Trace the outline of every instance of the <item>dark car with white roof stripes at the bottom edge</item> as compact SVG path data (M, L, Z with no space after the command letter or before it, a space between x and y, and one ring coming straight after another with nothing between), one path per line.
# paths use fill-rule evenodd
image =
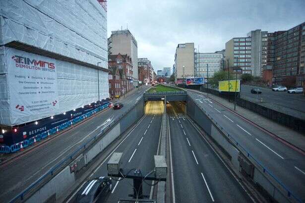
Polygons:
M99 177L88 180L78 191L77 203L102 202L112 190L112 180L108 177Z

